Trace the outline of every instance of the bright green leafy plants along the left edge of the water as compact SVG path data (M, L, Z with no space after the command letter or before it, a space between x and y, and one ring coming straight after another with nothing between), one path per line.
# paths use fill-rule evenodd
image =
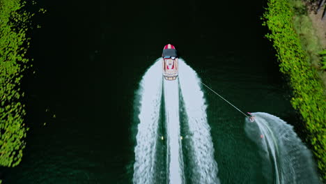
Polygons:
M22 72L29 59L26 22L32 15L22 10L20 0L0 0L0 165L15 167L22 160L26 114L20 102Z

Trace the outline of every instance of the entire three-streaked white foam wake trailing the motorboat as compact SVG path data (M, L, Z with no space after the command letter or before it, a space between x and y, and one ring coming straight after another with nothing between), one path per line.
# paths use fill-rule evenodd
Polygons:
M164 91L164 110L166 128L166 183L185 183L182 140L180 139L180 98L183 98L187 116L186 132L189 141L189 160L192 183L219 183L217 162L207 122L205 99L199 84L199 77L183 59L179 59L179 77L174 81L162 79L162 60L157 59L143 76L137 94L140 97L137 146L134 148L133 183L156 183L155 172L164 168L155 165L157 160L157 141L160 140L158 128L160 106ZM164 82L162 82L164 80ZM163 88L162 88L163 86ZM179 90L182 96L179 97ZM165 140L165 139L164 139Z

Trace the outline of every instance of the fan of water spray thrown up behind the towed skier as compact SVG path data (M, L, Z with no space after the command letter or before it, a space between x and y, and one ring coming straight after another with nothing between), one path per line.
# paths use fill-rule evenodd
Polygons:
M319 183L311 153L293 127L271 114L253 115L255 121L246 118L244 129L258 146L267 183Z

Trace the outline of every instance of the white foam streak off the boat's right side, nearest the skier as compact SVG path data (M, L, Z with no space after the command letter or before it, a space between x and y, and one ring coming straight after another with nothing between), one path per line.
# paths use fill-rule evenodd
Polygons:
M179 59L179 82L188 118L187 139L192 147L192 183L219 183L217 162L207 122L206 105L200 79L183 59Z

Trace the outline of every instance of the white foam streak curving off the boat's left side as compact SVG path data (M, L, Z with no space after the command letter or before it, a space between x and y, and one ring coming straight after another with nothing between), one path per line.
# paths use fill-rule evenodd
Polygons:
M134 148L134 177L133 183L155 183L155 151L157 145L157 128L160 117L162 98L162 61L155 61L143 79L139 93L139 125L137 146Z

